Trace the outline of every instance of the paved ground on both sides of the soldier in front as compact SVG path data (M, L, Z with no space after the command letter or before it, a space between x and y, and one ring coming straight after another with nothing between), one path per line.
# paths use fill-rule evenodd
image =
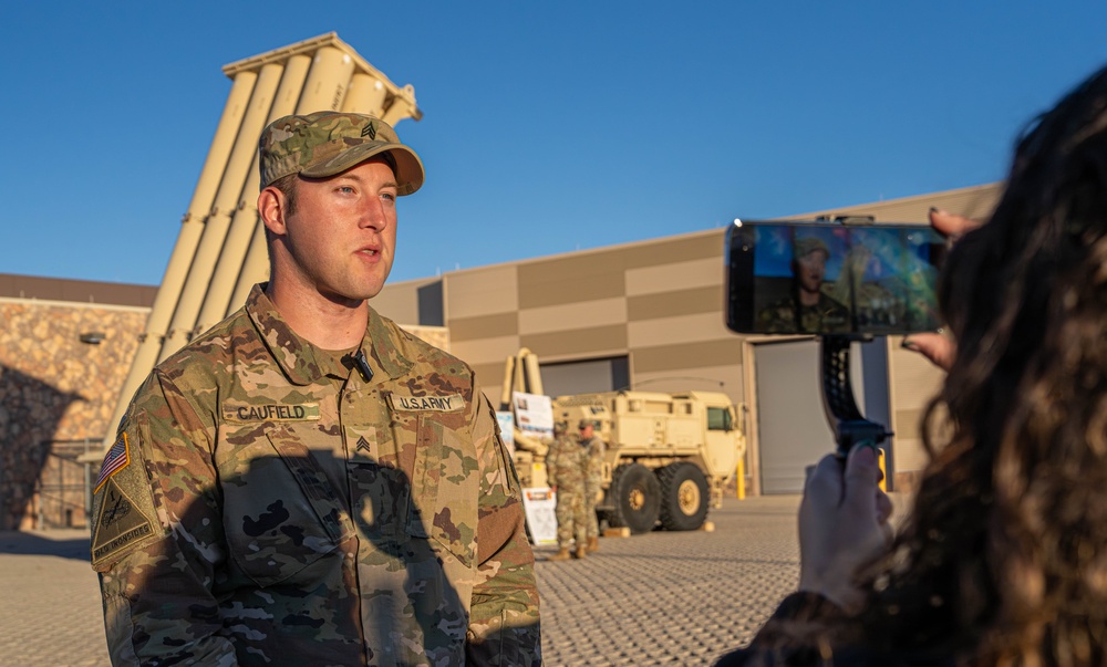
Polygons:
M795 586L798 497L726 499L714 532L602 538L583 561L536 550L548 667L710 665ZM84 531L0 533L0 665L108 665Z

